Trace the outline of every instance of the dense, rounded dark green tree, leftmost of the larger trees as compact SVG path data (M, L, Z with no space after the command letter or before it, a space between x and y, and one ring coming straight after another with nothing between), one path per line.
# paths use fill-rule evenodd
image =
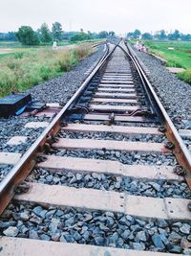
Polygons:
M32 30L30 26L21 26L16 32L16 37L24 45L38 45L38 35Z

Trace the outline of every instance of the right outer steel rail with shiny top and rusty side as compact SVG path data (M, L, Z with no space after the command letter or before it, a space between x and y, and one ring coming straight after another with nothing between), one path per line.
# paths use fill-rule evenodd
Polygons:
M191 188L191 154L186 148L183 140L181 139L179 131L171 121L163 105L160 103L159 97L157 96L152 84L147 79L141 65L139 64L138 58L135 56L130 46L128 44L125 44L125 45L128 50L127 54L134 59L134 62L138 66L138 70L139 70L139 73L141 74L142 79L145 81L146 85L148 86L153 96L153 99L156 102L156 105L158 105L160 115L162 116L162 119L166 128L165 134L169 139L169 141L171 141L175 145L175 149L173 150L173 152L175 153L179 164L185 169L186 171L185 179L187 181L189 188Z

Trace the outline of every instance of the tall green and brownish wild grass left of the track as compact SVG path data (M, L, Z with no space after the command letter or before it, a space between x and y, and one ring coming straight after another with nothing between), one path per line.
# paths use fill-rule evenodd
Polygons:
M60 76L91 53L92 48L84 44L73 50L53 51L47 47L7 54L0 58L0 97Z

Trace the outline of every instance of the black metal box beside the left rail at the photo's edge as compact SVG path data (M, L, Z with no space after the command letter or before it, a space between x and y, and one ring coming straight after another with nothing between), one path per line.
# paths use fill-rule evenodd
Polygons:
M0 99L0 117L14 115L19 109L32 101L31 94L17 93Z

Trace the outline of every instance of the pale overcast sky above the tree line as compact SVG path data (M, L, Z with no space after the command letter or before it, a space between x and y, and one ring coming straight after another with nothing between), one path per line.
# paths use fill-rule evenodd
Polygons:
M0 32L54 21L64 31L117 34L178 29L191 34L191 0L0 0Z

